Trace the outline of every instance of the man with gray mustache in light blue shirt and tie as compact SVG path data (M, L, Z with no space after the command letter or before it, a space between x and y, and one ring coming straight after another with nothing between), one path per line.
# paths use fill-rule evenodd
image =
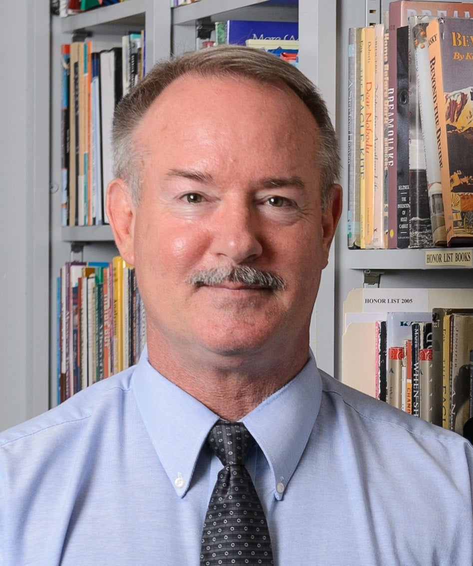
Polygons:
M188 54L125 98L114 145L107 209L147 349L2 435L3 563L212 563L201 540L222 464L206 438L224 419L255 440L242 474L274 564L472 564L470 444L345 387L309 351L341 209L313 86L258 50Z

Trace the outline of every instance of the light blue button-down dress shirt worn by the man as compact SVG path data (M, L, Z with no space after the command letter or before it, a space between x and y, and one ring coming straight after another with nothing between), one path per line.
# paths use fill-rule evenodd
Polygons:
M198 566L217 415L147 361L0 435L0 564ZM310 357L242 419L279 566L473 564L473 451Z

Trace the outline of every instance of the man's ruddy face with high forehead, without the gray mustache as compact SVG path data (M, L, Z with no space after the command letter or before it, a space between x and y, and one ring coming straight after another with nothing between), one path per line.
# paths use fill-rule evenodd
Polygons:
M119 247L136 268L150 359L307 355L339 199L322 212L319 137L303 102L283 85L188 75L154 102L136 143L141 201ZM284 289L190 282L235 266L271 272Z

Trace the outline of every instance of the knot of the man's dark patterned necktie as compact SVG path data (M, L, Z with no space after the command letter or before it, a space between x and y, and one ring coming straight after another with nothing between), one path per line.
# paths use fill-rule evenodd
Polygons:
M243 423L229 421L217 421L207 437L207 444L224 466L244 466L246 454L253 443L254 438Z

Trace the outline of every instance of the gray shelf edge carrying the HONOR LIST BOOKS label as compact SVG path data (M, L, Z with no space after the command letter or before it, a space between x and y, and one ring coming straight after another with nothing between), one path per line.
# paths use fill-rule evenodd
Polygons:
M470 269L459 265L429 265L426 263L426 252L429 254L463 253L473 254L471 248L429 248L428 250L348 250L349 269L372 269L388 271L403 269Z

